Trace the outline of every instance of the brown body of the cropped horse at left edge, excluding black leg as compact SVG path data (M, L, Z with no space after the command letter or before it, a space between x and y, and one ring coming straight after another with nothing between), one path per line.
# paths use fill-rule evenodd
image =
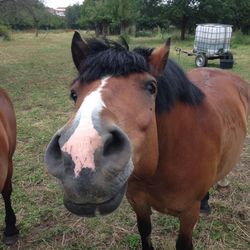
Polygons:
M0 89L0 191L8 174L8 166L16 147L16 120L7 93Z

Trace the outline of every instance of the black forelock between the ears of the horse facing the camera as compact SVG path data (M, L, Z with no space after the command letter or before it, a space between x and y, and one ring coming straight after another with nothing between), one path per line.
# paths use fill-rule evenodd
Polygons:
M97 79L112 76L128 76L131 73L149 72L146 58L128 50L118 42L109 40L88 40L88 53L82 62L80 82L91 83Z

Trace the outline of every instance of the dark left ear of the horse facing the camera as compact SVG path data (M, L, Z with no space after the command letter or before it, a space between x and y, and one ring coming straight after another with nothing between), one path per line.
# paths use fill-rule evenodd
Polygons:
M75 34L71 42L71 53L74 64L77 70L80 70L81 62L86 58L88 51L88 44L86 41L82 40L80 34L75 31Z

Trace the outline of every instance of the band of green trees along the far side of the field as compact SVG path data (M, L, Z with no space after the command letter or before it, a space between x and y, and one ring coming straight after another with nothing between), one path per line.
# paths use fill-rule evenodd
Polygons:
M181 39L197 23L224 23L250 33L249 0L85 0L69 6L65 17L48 12L39 0L0 0L0 23L13 29L89 29L97 36L142 30L181 30Z

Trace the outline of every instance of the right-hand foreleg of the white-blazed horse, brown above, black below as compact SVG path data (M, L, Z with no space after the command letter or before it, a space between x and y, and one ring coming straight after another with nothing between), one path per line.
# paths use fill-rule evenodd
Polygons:
M179 215L180 230L176 241L176 250L192 250L192 233L200 214L200 202Z

